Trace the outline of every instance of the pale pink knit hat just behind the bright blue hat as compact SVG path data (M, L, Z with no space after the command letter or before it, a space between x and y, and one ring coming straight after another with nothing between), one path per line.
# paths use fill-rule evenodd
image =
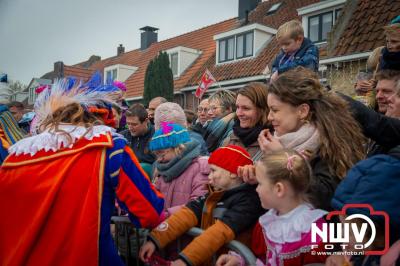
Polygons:
M173 102L160 104L154 112L154 127L159 129L162 122L173 122L187 127L186 115L182 107Z

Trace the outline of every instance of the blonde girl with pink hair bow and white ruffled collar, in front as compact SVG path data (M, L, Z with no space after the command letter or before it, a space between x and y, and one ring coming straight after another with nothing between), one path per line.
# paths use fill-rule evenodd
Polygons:
M321 227L326 212L314 209L307 201L311 182L307 161L296 151L272 152L257 162L256 177L261 205L269 209L253 232L257 265L323 263L326 256L312 254L311 245L319 245L320 239L311 243L311 224ZM244 261L238 254L226 254L217 265L244 265Z

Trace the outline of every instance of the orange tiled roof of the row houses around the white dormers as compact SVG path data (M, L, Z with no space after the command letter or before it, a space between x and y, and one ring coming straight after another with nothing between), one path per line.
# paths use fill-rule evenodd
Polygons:
M270 7L278 2L283 2L283 4L280 6L277 12L266 16L266 13ZM250 23L260 23L276 29L288 20L295 18L299 19L297 15L298 8L316 2L319 2L319 0L272 0L262 2L253 12L250 13L249 21ZM195 60L195 62L184 73L181 74L179 78L174 80L175 90L198 84L200 77L206 68L213 73L214 77L218 81L261 75L265 67L271 64L271 61L279 50L275 39L272 39L270 43L267 44L267 46L255 58L245 59L228 64L215 65L216 49L213 36L235 29L239 26L239 22L236 18L226 20L174 38L154 43L143 51L137 49L124 53L120 56L95 62L90 66L90 69L91 71L104 71L105 67L115 64L125 64L138 67L136 72L126 80L128 97L142 95L144 87L144 75L149 61L153 59L159 51L171 49L177 46L201 50L202 53ZM75 67L79 66L80 64L75 65ZM77 74L75 75L77 76Z

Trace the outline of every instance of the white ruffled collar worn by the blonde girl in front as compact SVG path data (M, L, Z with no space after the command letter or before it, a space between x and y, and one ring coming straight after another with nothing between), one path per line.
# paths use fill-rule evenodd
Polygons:
M259 222L269 240L284 244L301 240L301 234L309 232L311 224L326 213L301 204L284 215L277 215L275 209L270 209L260 217Z

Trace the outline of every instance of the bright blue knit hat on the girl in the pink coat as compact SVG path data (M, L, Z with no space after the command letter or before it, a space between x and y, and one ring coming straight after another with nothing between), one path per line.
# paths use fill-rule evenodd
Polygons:
M190 142L190 135L186 128L172 122L162 122L149 143L151 151L178 147Z

